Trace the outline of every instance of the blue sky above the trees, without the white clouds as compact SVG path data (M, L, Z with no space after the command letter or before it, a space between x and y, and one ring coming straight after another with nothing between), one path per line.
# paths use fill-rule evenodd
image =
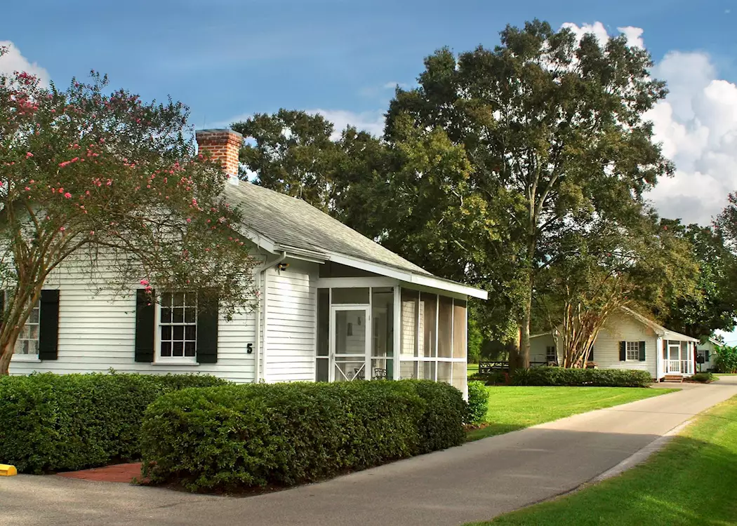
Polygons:
M505 24L601 21L644 29L656 60L706 51L737 77L733 0L638 1L58 1L13 2L0 18L52 79L89 69L146 99L170 94L201 127L287 108L374 112L387 83L411 83L441 46L493 46Z

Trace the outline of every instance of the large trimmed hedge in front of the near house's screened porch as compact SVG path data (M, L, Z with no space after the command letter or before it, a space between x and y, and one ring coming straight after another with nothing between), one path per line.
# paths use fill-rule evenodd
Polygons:
M143 474L190 491L295 485L464 441L450 385L228 385L162 396L142 424Z

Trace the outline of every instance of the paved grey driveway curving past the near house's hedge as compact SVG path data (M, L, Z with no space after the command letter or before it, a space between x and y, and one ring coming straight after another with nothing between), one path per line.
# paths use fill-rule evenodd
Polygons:
M486 438L257 497L18 475L0 479L0 525L459 525L577 488L737 395L737 378Z

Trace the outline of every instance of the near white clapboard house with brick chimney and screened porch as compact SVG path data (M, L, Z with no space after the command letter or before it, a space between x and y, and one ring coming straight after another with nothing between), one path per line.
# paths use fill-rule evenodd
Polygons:
M237 174L242 136L201 130ZM149 305L97 292L77 264L49 278L11 374L206 373L234 382L421 378L466 392L467 301L486 292L433 276L302 200L231 178L242 234L261 264L254 312L226 320L192 292ZM216 312L217 309L212 309Z

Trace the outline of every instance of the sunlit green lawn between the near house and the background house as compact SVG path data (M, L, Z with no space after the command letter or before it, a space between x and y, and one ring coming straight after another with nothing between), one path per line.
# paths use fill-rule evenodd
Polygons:
M489 396L487 427L469 431L468 440L500 435L565 416L671 393L675 389L548 388L497 385Z

